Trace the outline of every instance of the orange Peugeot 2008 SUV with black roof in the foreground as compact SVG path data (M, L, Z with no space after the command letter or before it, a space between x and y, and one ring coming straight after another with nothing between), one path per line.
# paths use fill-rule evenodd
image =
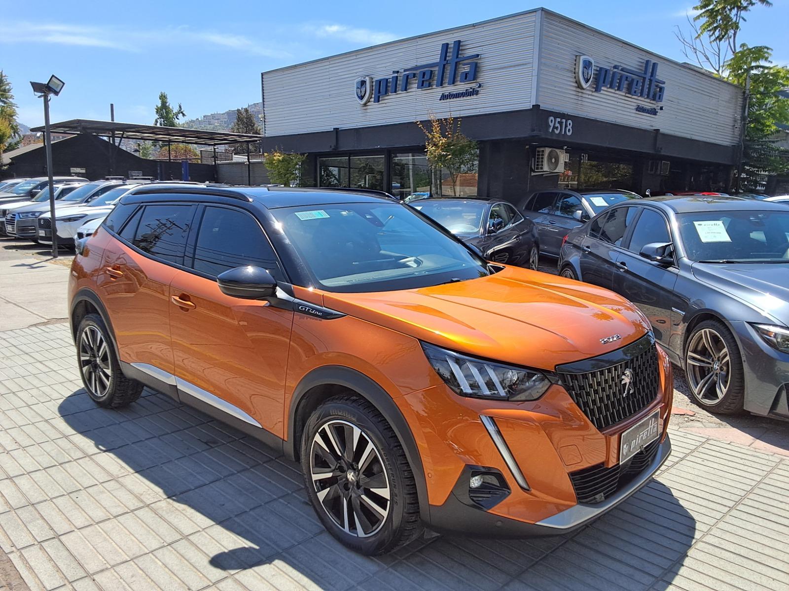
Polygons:
M77 251L92 399L149 386L282 450L358 552L566 533L670 452L671 365L632 304L385 194L148 185Z

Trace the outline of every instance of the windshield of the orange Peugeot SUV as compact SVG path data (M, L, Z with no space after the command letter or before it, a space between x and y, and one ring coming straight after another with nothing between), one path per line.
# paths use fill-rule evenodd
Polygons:
M488 275L481 258L396 203L271 210L320 287L381 292Z

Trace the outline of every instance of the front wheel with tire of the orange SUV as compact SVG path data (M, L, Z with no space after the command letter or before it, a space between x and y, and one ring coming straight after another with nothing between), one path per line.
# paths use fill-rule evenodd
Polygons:
M357 441L352 456L345 453L346 440ZM336 396L316 408L301 436L301 469L318 519L348 548L373 556L420 535L417 485L406 453L366 400Z

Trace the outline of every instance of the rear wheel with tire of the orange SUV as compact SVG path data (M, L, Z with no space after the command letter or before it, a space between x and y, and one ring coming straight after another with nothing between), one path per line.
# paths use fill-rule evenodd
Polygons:
M99 314L88 314L80 322L77 364L85 391L101 407L129 406L143 391L139 381L123 375L109 332Z

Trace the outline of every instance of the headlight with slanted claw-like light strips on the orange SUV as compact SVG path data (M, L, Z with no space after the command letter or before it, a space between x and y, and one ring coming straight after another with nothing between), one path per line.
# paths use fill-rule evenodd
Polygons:
M436 373L460 396L537 400L552 384L538 371L476 359L428 343L421 345Z

